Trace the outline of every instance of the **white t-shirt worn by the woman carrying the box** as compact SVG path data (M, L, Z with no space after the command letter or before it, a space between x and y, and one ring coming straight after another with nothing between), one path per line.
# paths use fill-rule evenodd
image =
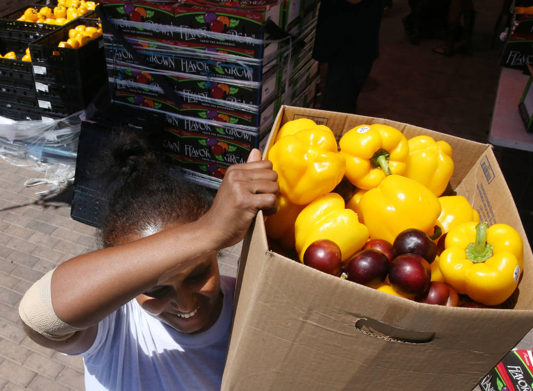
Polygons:
M221 276L224 294L219 319L208 330L186 334L159 321L137 300L98 324L83 356L85 389L220 389L228 348L235 278Z

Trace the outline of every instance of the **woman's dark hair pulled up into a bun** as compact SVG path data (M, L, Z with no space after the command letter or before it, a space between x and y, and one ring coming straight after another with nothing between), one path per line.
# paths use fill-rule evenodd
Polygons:
M93 168L104 173L110 194L100 229L103 247L145 230L195 221L212 202L207 189L165 166L147 138L133 131L118 131Z

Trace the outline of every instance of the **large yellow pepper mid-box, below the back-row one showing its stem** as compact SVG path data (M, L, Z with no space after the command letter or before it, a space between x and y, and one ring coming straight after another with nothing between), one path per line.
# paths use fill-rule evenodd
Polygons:
M440 215L440 203L423 184L405 176L389 175L377 188L361 196L359 210L370 239L393 243L397 235L408 228L422 230L432 237Z

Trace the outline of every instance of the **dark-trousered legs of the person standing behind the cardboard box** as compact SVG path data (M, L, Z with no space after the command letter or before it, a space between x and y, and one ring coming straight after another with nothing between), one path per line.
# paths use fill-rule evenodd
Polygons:
M320 109L356 113L357 98L368 80L373 62L328 62Z

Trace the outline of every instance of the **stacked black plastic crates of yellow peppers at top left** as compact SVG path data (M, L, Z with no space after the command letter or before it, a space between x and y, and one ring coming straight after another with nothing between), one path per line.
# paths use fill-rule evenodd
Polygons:
M58 0L0 19L0 115L55 119L87 107L106 80L95 6Z

